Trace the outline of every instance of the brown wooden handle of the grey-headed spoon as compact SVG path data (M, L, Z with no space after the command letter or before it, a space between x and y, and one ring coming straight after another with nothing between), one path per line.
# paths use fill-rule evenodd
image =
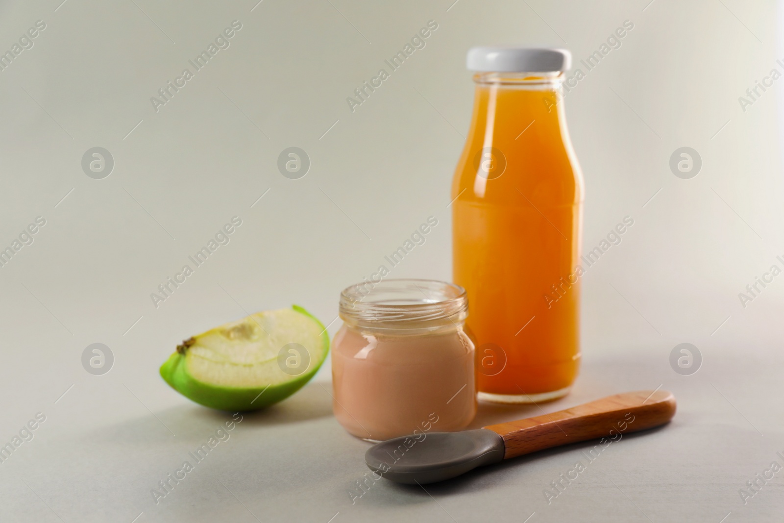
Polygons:
M595 438L618 441L622 434L658 427L674 415L673 394L666 390L638 390L484 428L503 438L503 458L508 459Z

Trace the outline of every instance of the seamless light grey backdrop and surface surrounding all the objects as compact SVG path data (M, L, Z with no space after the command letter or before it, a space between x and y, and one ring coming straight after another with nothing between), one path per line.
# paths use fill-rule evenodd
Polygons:
M0 71L0 246L46 220L0 267L0 441L46 416L0 463L2 521L780 520L781 474L746 505L738 492L784 464L784 276L745 308L738 296L784 255L784 79L746 111L738 100L784 71L775 2L60 2L0 4L2 52L46 24ZM151 96L233 20L230 47L154 111ZM428 20L426 47L350 111L347 96ZM584 247L624 216L634 225L583 279L583 374L543 409L662 385L680 401L673 424L612 445L550 506L543 489L583 446L429 494L379 483L352 505L366 445L332 418L327 362L156 506L151 488L228 419L160 379L176 343L292 303L334 334L339 291L430 215L437 227L391 277L449 279L466 50L557 45L579 67L624 20L622 46L564 103ZM82 172L91 147L114 157L103 180ZM278 172L287 147L307 151L307 176ZM678 147L701 155L691 180L670 172ZM232 216L229 245L154 307L150 293ZM111 372L82 368L91 343L111 348ZM670 369L678 343L701 351L696 374ZM475 425L539 413L483 405Z

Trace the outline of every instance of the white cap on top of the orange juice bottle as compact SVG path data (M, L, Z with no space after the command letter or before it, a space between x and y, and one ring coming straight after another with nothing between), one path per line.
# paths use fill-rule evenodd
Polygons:
M539 47L472 47L466 66L470 71L499 73L566 71L572 67L572 53Z

